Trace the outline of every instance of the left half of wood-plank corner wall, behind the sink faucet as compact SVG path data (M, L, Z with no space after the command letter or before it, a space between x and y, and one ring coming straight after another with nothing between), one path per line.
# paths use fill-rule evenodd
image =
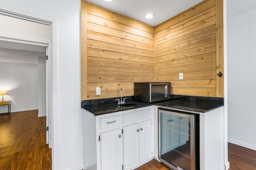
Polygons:
M154 80L154 27L83 0L81 4L86 4L81 6L87 15L81 29L87 36L81 39L87 53L81 56L86 59L81 69L87 70L81 100L119 97L122 87L123 96L133 96L134 82Z

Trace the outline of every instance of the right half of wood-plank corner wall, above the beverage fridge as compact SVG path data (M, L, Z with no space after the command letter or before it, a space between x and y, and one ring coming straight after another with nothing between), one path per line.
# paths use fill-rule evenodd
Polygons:
M155 27L155 81L171 82L172 94L224 97L222 4L204 0Z

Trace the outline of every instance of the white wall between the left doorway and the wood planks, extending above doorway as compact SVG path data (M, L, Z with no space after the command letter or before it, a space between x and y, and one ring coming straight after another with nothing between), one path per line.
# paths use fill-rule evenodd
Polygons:
M80 0L0 0L0 8L53 22L53 168L81 170Z

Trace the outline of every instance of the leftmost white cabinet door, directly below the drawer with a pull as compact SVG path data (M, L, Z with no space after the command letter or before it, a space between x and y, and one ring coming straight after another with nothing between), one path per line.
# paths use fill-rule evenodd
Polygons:
M100 134L101 170L122 170L122 130Z

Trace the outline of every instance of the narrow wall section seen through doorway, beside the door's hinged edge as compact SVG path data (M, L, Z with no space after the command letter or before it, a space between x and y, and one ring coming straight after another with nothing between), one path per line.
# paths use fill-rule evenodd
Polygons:
M46 57L38 57L38 117L46 116Z

